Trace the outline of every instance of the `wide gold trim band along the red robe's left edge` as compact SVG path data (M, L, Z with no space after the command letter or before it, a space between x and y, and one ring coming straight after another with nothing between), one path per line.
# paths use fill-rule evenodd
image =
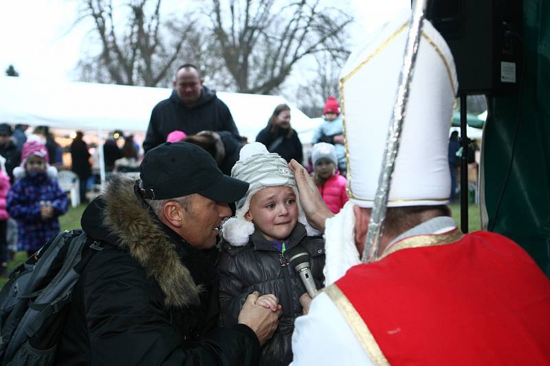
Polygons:
M351 330L353 330L353 333L357 337L359 343L361 343L363 350L369 355L369 358L371 358L371 361L373 361L375 365L389 365L390 363L388 363L382 350L380 350L369 327L366 326L360 314L355 310L353 304L351 304L346 295L342 293L342 290L340 290L336 284L331 284L326 287L324 291L329 295L338 310L340 310L347 320Z

